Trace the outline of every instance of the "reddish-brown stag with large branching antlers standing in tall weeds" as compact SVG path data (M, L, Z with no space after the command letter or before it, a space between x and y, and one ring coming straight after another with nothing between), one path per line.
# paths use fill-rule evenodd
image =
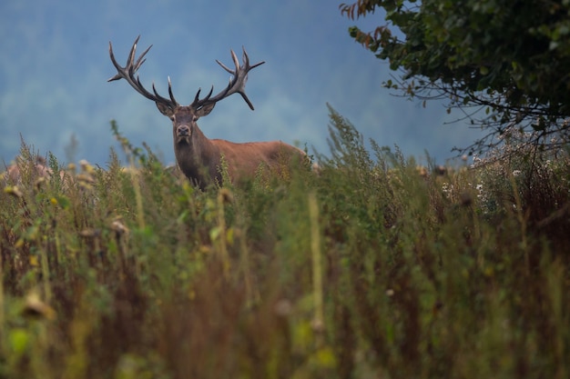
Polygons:
M172 84L168 76L168 98L158 95L157 89L152 84L150 93L140 82L137 75L138 69L146 61L144 58L152 45L136 58L137 43L140 35L130 49L127 57L127 65L124 67L117 64L113 54L113 45L109 41L109 56L117 69L117 75L109 78L107 82L125 79L138 94L155 102L158 111L166 115L172 121L172 135L174 141L174 155L179 170L194 185L204 190L208 185L222 183L222 167L225 163L229 178L232 182L241 182L252 178L260 168L280 170L282 165L292 165L295 161L303 163L308 160L305 152L299 148L285 144L281 141L270 142L246 142L233 143L223 139L209 139L198 127L198 119L209 115L214 106L229 95L239 94L253 111L254 107L245 93L245 85L249 71L263 65L260 62L249 65L249 56L245 47L242 47L242 64L233 50L230 50L235 69L216 60L231 77L229 84L217 95L212 95L214 86L209 93L200 98L201 88L190 105L179 105L172 93Z

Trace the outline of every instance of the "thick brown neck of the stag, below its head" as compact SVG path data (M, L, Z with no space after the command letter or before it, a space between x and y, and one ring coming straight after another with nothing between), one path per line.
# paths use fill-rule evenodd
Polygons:
M209 185L213 177L221 179L219 148L198 127L194 127L187 138L178 139L174 135L174 155L180 171L200 188Z

